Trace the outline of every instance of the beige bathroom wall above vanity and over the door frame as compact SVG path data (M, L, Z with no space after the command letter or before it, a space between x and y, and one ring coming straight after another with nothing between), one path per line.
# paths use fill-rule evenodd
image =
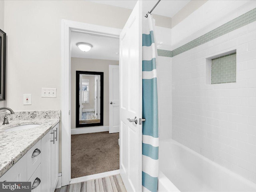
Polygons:
M0 3L8 39L6 102L0 106L17 111L61 109L62 19L122 29L132 11L80 0ZM169 25L170 18L158 19L156 24ZM57 88L57 98L42 98L41 88ZM32 105L23 105L23 94L32 94ZM61 142L60 128L60 153ZM61 172L61 155L59 160Z

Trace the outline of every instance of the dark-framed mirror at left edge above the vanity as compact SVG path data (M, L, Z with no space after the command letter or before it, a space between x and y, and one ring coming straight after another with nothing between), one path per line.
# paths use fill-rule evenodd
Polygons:
M0 100L5 100L6 33L0 29Z

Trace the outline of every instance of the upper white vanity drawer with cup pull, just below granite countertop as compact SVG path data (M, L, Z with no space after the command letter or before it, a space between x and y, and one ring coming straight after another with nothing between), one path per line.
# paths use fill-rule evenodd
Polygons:
M27 178L30 178L41 163L41 140L27 152Z

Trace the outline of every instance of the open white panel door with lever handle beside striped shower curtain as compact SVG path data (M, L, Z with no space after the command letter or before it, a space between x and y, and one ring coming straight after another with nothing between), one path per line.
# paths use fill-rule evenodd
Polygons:
M120 34L120 174L127 191L142 191L142 1Z

